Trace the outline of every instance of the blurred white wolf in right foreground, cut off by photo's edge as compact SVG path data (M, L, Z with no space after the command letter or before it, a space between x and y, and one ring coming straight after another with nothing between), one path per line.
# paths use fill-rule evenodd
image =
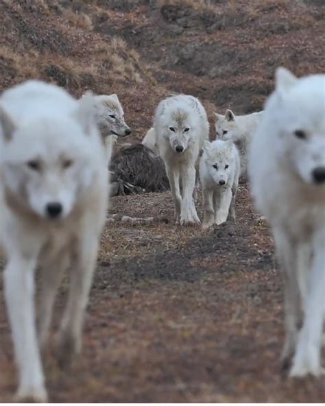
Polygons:
M322 372L325 318L325 75L276 71L276 91L252 141L249 175L256 207L269 220L285 270L290 374ZM301 302L300 302L301 300ZM302 322L302 328L298 328Z

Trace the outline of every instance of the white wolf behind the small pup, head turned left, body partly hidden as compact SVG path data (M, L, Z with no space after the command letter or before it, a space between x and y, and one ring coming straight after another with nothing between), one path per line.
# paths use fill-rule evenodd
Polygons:
M235 143L241 156L241 178L247 178L248 150L252 135L263 118L263 111L250 115L236 116L227 109L225 115L215 113L215 131L217 138Z

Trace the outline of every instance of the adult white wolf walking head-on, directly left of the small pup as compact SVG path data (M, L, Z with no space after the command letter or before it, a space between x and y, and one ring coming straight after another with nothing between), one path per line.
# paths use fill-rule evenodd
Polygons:
M171 96L158 104L154 131L171 187L176 224L200 224L193 200L195 165L208 130L206 111L195 97Z

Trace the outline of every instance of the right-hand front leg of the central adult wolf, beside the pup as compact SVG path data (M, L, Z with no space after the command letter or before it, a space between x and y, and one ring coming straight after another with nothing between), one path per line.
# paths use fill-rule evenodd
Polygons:
M193 191L195 187L195 167L184 167L182 169L182 206L180 211L180 224L182 226L193 226L200 224L197 217L195 203L193 200Z

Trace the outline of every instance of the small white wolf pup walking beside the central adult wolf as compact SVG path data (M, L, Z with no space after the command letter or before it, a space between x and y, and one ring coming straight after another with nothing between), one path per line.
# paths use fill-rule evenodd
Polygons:
M205 141L200 159L202 184L203 227L236 221L235 200L241 163L232 141Z

